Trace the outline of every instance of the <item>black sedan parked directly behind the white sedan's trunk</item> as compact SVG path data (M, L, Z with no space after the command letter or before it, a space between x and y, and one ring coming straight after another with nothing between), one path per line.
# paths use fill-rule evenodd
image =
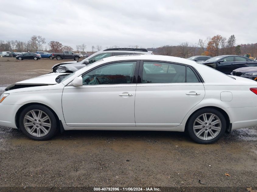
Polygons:
M238 55L217 56L199 63L217 69L227 75L230 75L233 70L241 67L257 66L257 61Z

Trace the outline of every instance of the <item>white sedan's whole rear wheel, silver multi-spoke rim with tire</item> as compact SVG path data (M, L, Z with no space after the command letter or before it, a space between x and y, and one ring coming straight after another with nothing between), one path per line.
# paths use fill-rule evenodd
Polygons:
M219 140L226 130L226 120L216 109L201 109L188 122L189 136L197 143L209 144Z

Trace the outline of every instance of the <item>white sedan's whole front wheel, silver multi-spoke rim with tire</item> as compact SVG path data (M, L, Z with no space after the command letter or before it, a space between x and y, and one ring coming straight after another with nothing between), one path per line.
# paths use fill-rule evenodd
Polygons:
M57 133L57 120L47 107L31 105L19 117L22 132L33 140L48 140Z

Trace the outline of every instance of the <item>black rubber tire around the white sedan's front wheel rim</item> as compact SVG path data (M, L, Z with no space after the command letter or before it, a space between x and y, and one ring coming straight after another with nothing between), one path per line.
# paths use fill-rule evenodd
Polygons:
M40 136L40 137L37 137L37 136L33 136L32 134L30 134L24 124L23 124L23 120L24 120L24 117L25 115L31 111L31 110L41 110L43 111L44 113L47 114L47 116L49 117L50 119L50 122L51 122L51 127L50 127L50 130L49 132L44 135L44 136ZM22 130L22 132L27 136L29 137L30 139L33 139L33 140L38 140L38 141L44 141L44 140L49 140L50 138L52 138L53 136L56 135L56 133L58 132L59 130L59 126L58 126L58 123L57 123L57 119L56 117L54 116L54 113L48 109L47 107L45 106L42 106L42 105L30 105L28 107L26 107L25 109L23 109L23 111L20 113L20 116L19 116L19 128Z

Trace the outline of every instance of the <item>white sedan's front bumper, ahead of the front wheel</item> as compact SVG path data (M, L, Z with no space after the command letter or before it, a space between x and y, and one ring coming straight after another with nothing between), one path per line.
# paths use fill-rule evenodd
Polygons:
M22 105L0 104L0 126L17 129L15 116Z

